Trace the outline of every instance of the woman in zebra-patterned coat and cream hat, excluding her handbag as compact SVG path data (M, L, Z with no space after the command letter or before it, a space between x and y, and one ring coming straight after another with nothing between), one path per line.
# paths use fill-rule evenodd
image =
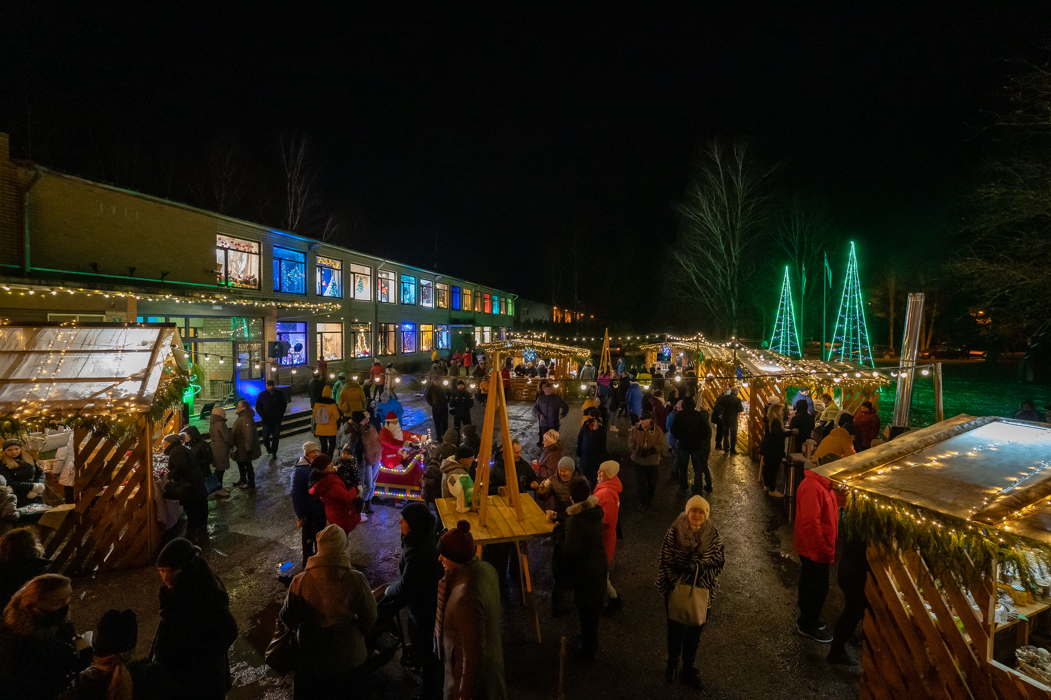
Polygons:
M697 588L708 591L708 611L719 590L719 575L726 565L722 537L712 522L712 508L699 495L686 502L680 513L664 534L657 559L657 588L664 596L664 608L680 579L694 582ZM701 643L704 624L688 625L667 620L667 665L664 679L674 683L680 677L679 660L682 660L681 678L686 685L700 690L701 676L695 665L697 648Z

